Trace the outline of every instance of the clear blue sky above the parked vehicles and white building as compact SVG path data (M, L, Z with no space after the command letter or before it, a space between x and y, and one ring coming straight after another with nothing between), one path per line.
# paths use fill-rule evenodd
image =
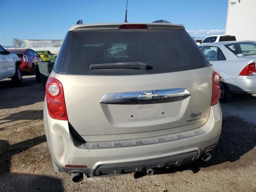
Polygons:
M224 34L227 0L128 0L128 22L164 19L191 36ZM0 0L0 44L12 38L63 39L77 20L123 22L126 0Z

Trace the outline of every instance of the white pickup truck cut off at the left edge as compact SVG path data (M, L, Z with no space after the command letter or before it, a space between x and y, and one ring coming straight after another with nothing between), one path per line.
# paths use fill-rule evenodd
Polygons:
M10 53L0 45L0 80L12 78L14 83L19 84L22 81L20 64L16 54Z

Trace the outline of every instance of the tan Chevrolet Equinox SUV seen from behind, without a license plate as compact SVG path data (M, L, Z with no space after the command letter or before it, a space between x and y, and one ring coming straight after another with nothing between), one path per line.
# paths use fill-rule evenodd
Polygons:
M80 182L209 160L222 126L219 82L182 25L73 26L46 84L54 169Z

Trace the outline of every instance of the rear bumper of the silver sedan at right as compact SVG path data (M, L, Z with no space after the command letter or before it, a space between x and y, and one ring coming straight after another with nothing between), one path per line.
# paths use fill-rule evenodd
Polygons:
M238 76L236 79L225 80L232 93L256 94L256 75Z

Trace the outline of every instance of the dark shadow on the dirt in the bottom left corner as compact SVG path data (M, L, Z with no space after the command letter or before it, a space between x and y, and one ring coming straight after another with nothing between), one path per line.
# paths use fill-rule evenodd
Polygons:
M50 176L35 174L11 173L10 158L24 150L46 141L45 136L39 136L17 144L9 145L6 140L0 140L0 191L63 191L62 181Z

